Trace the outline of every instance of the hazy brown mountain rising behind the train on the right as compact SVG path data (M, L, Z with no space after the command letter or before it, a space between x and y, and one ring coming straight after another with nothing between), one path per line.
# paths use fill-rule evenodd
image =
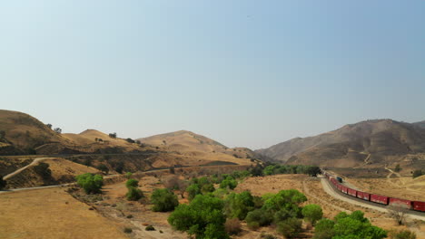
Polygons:
M289 164L356 167L385 163L393 156L425 152L425 129L391 119L349 124L308 138L291 139L256 150L265 157Z

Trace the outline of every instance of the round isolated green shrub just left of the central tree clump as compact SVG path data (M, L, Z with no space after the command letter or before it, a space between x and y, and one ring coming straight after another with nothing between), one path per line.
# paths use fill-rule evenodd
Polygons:
M166 188L155 189L151 196L154 212L173 211L174 207L179 205L177 196Z

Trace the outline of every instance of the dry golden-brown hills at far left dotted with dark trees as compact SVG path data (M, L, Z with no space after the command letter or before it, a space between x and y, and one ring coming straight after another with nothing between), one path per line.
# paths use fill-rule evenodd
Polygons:
M103 139L96 141L95 139ZM80 134L60 134L34 117L0 110L0 155L130 152L142 150L125 139L87 129Z

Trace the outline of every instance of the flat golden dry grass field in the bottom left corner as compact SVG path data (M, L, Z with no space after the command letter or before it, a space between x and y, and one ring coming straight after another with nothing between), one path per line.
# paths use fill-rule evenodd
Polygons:
M64 188L0 194L0 238L127 238Z

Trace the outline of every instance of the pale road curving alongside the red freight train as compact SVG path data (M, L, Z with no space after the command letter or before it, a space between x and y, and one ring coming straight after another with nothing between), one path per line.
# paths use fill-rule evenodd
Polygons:
M353 196L348 196L346 194L341 193L340 191L336 190L333 186L331 186L331 183L328 181L326 177L321 177L321 186L323 186L323 189L325 192L337 199L340 199L342 201L345 201L347 203L350 203L352 205L357 206L365 206L383 213L388 213L388 207L387 206L381 206L375 203L367 202L364 200L361 200L360 198L356 198ZM411 219L417 219L425 221L425 213L420 213L416 211L410 211L407 215Z

